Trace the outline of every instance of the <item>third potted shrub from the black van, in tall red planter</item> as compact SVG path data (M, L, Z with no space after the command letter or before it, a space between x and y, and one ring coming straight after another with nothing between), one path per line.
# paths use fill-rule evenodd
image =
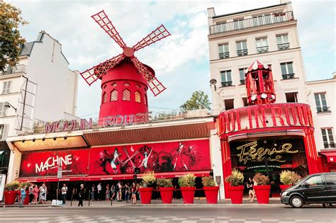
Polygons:
M225 178L225 182L230 183L228 190L231 202L233 204L242 204L242 195L244 193L244 175L238 170L233 170L231 175Z

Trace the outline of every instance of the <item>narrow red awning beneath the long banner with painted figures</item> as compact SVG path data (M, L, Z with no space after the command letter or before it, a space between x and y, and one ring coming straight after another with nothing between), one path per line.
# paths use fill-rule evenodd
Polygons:
M210 171L181 171L181 172L164 172L155 173L157 178L175 178L183 176L186 173L194 173L195 176L210 176ZM112 180L130 180L133 179L133 174L113 174L113 175L91 175L86 176L84 181L112 181ZM141 178L138 174L137 178Z

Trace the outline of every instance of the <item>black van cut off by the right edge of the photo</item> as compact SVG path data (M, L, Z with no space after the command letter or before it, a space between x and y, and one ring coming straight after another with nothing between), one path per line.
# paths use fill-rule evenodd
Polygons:
M315 173L281 192L281 203L291 207L306 204L336 204L336 173Z

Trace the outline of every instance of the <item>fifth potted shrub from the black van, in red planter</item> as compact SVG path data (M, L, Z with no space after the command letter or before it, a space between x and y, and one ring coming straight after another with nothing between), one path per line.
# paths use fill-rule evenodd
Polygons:
M186 174L179 177L179 187L184 204L193 204L195 195L195 178L194 174Z

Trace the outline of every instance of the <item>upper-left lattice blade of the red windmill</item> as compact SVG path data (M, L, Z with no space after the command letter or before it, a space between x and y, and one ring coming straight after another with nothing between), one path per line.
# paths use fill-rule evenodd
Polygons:
M111 21L108 19L108 16L104 11L100 11L99 13L94 14L91 16L96 23L98 23L105 32L111 36L111 38L116 41L118 45L121 46L121 48L126 47L125 42L123 42L123 38L119 35L118 31L114 27L114 25L111 23Z

